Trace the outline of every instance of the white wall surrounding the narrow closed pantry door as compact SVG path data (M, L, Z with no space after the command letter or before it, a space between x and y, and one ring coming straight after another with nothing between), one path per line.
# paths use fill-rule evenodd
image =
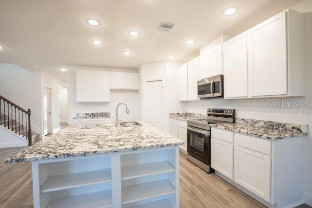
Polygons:
M140 100L141 116L143 121L146 120L146 82L152 80L163 80L163 129L169 133L169 113L180 111L178 104L178 67L181 62L156 62L142 64L139 72L141 78Z

